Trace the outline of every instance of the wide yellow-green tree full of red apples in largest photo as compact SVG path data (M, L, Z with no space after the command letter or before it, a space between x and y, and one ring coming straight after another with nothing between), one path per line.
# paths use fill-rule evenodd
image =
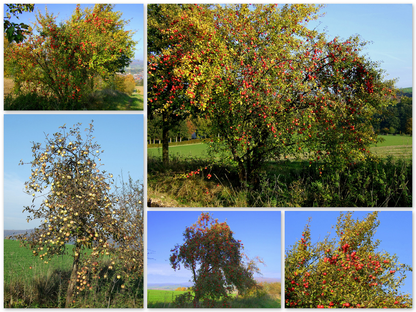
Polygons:
M360 37L308 29L320 8L163 7L170 24L160 35L171 44L149 56L148 101L166 110L185 95L220 134L209 150L253 185L263 163L288 156L308 159L319 174L371 159L378 139L370 120L395 96L394 81L362 55Z

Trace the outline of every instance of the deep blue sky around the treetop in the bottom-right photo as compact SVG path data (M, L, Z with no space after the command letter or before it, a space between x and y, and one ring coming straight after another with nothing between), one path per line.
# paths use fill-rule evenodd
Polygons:
M369 211L355 211L352 218L362 220ZM310 221L311 242L322 241L327 232L335 237L339 211L285 211L285 250L294 245L302 237L302 232ZM386 250L390 255L397 254L399 262L412 265L412 212L411 211L381 211L377 216L380 225L376 229L373 239L381 240L379 250ZM412 272L408 272L406 285L400 288L401 292L412 293Z

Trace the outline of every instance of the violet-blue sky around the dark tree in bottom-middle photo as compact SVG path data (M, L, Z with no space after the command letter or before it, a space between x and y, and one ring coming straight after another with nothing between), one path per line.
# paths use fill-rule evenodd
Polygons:
M206 210L205 210L206 211ZM211 211L214 218L227 224L234 238L244 244L251 258L259 256L263 277L281 277L281 218L280 211ZM149 211L147 213L147 248L154 260L147 260L147 282L183 283L191 271L173 270L169 265L170 250L183 243L182 233L198 220L201 211Z

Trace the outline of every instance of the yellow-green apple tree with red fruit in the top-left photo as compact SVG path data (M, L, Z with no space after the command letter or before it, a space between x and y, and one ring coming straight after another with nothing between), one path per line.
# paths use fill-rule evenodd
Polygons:
M123 72L134 56L134 32L114 5L77 5L72 16L56 23L46 12L36 15L33 32L14 45L7 66L15 67L15 92L37 92L61 103L77 103L94 91L94 79Z

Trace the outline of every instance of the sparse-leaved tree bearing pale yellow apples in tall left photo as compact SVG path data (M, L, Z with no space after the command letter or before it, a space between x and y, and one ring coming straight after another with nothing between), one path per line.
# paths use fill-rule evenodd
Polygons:
M45 144L33 142L25 189L32 203L36 198L42 201L23 212L29 214L28 222L41 224L32 233L13 237L45 264L53 255L73 258L65 307L77 294L92 290L90 282L101 278L106 261L111 261L107 271L116 261L121 263L114 272L116 281L143 274L143 191L131 181L130 190L123 186L111 191L113 175L102 167L103 151L93 141L93 125L85 129L85 136L80 126L67 131L64 125L52 136L47 134Z

